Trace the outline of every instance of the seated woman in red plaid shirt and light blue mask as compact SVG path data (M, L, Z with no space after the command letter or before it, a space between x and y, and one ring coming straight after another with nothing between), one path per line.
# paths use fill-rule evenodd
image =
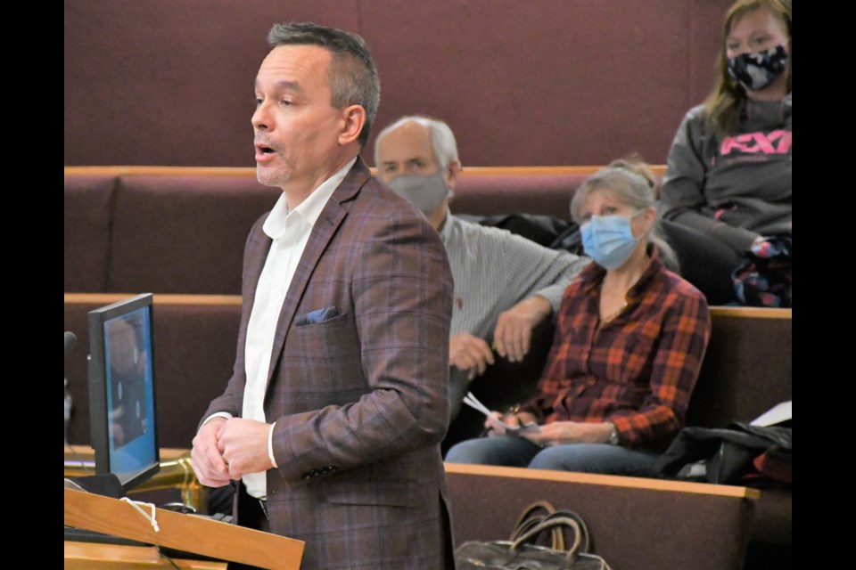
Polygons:
M449 463L615 475L652 467L684 425L711 335L707 303L672 273L645 178L607 167L576 191L571 214L594 262L564 291L539 395L485 423L488 437Z

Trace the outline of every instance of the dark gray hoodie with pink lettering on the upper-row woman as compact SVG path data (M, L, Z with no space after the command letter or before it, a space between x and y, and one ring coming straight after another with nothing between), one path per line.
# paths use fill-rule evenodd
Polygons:
M699 105L671 144L663 218L742 254L759 235L791 233L791 94L746 104L737 134L720 138Z

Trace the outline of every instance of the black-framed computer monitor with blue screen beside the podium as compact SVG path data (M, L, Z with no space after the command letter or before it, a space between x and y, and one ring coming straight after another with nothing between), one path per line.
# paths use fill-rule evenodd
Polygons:
M95 473L127 491L161 468L152 294L89 312L89 428Z

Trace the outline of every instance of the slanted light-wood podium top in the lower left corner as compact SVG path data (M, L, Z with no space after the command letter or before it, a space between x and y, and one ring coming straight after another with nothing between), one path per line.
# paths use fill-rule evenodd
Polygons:
M151 506L138 506L151 516ZM234 560L271 570L297 570L300 568L300 559L303 558L303 542L276 534L262 533L242 526L166 509L155 509L155 520L157 520L160 532L155 532L149 519L128 504L127 501L119 501L75 489L65 489L65 525L68 526L202 554L210 558ZM74 544L82 545L84 543L76 542ZM98 547L100 547L97 550L102 553L101 556L105 552L112 551L117 558L127 558L128 549L141 548L100 544ZM121 549L125 550L120 552ZM78 554L80 550L81 548L76 549ZM117 559L115 565L112 565L110 561L102 560L95 566L93 561L84 562L82 566L75 566L70 562L67 545L65 567L67 569L71 567L157 567L158 558L160 555L157 555L153 561L149 561L147 564L143 560L139 560L139 566L130 564L130 560L127 559ZM171 567L171 565L166 567ZM182 567L217 568L223 566L217 563L201 562L199 565L188 566L185 564Z

